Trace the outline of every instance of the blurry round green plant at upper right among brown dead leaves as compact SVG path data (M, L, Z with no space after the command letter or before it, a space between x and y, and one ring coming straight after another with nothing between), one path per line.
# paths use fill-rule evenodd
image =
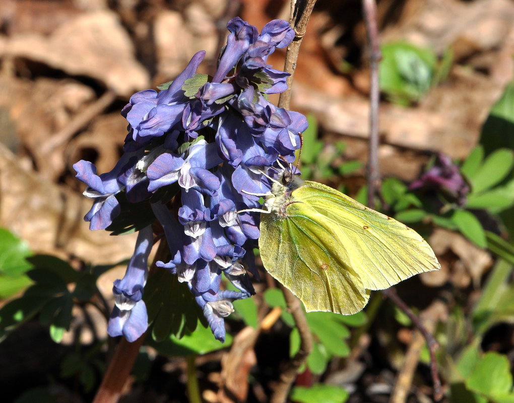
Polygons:
M405 106L418 102L445 80L453 61L451 50L438 61L431 49L406 42L385 44L381 51L380 89L392 102Z

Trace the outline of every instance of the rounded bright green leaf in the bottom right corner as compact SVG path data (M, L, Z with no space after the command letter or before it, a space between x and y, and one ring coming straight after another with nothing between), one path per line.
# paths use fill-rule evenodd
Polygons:
M512 389L509 360L505 355L486 353L466 380L466 386L486 396L507 394Z

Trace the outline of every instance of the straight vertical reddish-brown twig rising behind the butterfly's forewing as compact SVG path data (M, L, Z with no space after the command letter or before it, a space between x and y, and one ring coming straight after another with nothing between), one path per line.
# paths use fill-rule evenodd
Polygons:
M375 207L375 195L380 180L378 166L378 102L380 88L378 63L382 59L378 42L377 6L375 0L362 0L366 33L370 48L370 138L368 153L368 206Z

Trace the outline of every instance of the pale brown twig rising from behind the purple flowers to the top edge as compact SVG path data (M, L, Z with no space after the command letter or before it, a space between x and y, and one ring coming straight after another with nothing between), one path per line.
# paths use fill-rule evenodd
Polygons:
M289 25L295 29L295 39L287 47L284 71L291 75L287 78L287 89L280 94L279 107L289 109L291 101L292 79L295 75L296 61L302 43L303 35L307 29L307 22L313 12L316 0L291 0L291 17Z

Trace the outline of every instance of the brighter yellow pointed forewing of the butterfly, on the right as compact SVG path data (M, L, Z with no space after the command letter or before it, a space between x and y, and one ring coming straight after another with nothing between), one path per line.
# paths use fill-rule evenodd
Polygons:
M412 228L321 183L306 181L295 200L326 217L347 264L365 289L383 290L415 274L440 268L430 245Z

